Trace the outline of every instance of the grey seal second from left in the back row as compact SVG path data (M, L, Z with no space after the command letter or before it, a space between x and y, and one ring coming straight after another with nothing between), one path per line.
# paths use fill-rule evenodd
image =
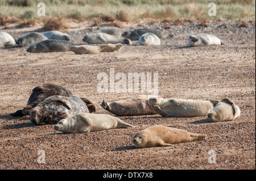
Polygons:
M48 40L48 38L44 36L42 33L30 32L19 37L16 43L20 47L27 47L43 40Z

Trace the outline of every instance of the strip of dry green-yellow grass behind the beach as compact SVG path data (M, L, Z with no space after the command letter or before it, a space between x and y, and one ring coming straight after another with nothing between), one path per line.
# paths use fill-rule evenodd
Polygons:
M144 18L205 20L255 20L255 0L212 1L216 3L216 16L209 16L209 1L206 0L3 0L1 15L20 19L40 18L38 2L46 4L46 16L91 20L101 15L110 15L126 21Z

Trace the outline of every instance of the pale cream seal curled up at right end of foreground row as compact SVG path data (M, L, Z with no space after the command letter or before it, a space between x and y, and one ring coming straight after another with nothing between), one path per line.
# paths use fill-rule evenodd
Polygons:
M221 99L221 101L209 112L208 118L214 122L233 121L240 117L240 108L230 99Z

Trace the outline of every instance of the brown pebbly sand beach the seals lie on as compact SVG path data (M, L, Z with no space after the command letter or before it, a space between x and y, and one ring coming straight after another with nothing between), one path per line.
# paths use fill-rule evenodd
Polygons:
M27 47L0 49L0 169L255 169L255 22L185 23L163 30L174 37L155 47L125 45L120 52L28 53ZM145 24L144 24L145 25ZM67 30L73 43L82 43L90 23L73 24ZM147 25L159 30L163 24ZM129 24L122 30L135 28ZM0 27L16 37L35 27ZM94 27L93 30L96 30ZM191 33L212 33L225 45L187 47ZM160 115L121 116L135 125L90 133L63 134L53 125L35 126L29 117L12 117L22 109L34 87L55 83L96 104L97 113L110 114L100 103L151 92L98 92L99 73L158 73L158 94L164 98L209 100L229 98L241 109L241 117L212 123L207 117L163 118ZM108 79L108 80L109 80ZM117 81L116 81L117 82ZM153 86L153 85L152 85ZM138 149L133 136L150 125L161 124L207 134L204 141L176 144L176 148ZM214 150L216 154L208 154ZM39 163L45 154L45 163ZM215 157L214 157L215 156ZM216 163L209 163L216 158ZM39 160L39 162L38 162Z

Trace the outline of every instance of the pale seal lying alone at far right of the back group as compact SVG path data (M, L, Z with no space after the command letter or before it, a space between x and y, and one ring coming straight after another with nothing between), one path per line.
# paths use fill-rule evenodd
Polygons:
M190 35L188 37L188 44L192 47L199 47L208 45L222 45L223 43L214 35L199 33L197 35Z

